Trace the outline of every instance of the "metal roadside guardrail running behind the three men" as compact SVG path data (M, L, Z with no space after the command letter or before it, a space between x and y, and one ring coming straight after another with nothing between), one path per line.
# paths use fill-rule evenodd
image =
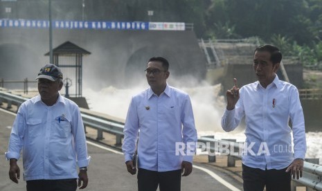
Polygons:
M27 98L22 98L21 96L13 95L9 92L0 91L0 105L2 102L7 102L10 104L16 104L17 108L22 102L28 100ZM8 108L9 109L9 108ZM84 127L91 127L98 131L98 139L102 139L102 132L105 131L109 134L116 135L116 145L121 144L121 139L123 135L123 122L118 122L116 120L110 120L108 118L100 117L82 111L82 119L84 122ZM228 147L220 147L220 145L228 145ZM241 159L239 154L241 151L241 143L235 143L235 140L217 140L215 138L201 137L198 138L198 147L204 146L209 152L209 161L214 161L216 152L219 154L226 154L228 156L228 166L235 166L235 161ZM229 153L226 153L228 151ZM233 151L233 152L232 152ZM212 153L212 154L211 154ZM317 165L313 163L304 162L303 177L298 180L292 179L292 190L296 190L296 186L306 186L307 188L312 188L316 190L322 190L322 165Z

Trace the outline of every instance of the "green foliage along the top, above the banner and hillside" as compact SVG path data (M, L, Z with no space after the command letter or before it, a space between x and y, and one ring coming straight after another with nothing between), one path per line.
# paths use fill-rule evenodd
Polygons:
M322 0L55 0L53 19L193 23L198 38L276 44L308 66L322 65ZM82 6L84 2L84 6ZM48 0L0 1L0 18L48 19ZM154 15L148 16L147 10ZM322 66L321 66L322 67Z

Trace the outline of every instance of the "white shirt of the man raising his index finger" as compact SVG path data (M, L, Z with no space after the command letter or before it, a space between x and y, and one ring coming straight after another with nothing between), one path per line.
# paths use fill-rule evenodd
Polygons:
M222 128L233 131L244 116L244 165L279 170L290 165L294 158L305 158L303 109L294 85L279 80L277 75L266 89L258 81L245 85L240 89L235 109L224 112ZM289 127L289 119L292 128Z

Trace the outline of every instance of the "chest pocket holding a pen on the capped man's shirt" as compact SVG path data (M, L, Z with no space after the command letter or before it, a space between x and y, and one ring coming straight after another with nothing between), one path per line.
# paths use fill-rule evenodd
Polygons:
M66 138L71 134L71 120L65 117L55 119L54 135L60 138Z

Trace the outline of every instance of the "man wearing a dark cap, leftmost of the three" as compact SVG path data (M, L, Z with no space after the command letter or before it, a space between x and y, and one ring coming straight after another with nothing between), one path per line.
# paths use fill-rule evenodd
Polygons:
M86 188L90 157L80 109L60 96L62 71L54 64L42 67L36 80L39 96L21 104L12 126L6 152L10 160L9 177L18 183L17 160L22 149L27 190Z

